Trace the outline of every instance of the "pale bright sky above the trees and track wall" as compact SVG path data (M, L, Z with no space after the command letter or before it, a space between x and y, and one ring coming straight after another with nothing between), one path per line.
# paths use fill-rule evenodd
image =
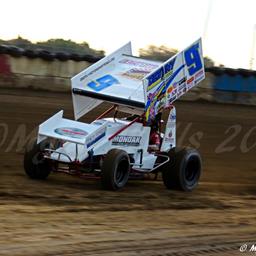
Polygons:
M1 39L86 41L107 54L131 41L137 55L152 44L182 50L202 37L204 56L217 65L249 68L255 58L256 69L256 0L2 0L0 10Z

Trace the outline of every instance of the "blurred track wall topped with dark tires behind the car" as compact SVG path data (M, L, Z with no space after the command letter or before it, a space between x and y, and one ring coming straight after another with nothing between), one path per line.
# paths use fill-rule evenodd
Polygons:
M70 78L99 57L0 46L0 88L70 91ZM182 100L256 105L256 71L211 67Z

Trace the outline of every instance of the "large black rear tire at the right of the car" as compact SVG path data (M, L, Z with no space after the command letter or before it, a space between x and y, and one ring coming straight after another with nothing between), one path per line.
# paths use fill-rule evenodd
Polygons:
M202 160L196 149L173 148L170 161L163 166L162 178L167 189L192 191L201 176Z

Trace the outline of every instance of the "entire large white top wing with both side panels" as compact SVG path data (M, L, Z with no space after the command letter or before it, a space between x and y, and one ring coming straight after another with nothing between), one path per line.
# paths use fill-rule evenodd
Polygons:
M71 79L76 120L108 101L149 121L205 77L201 39L164 63L131 54L128 43Z

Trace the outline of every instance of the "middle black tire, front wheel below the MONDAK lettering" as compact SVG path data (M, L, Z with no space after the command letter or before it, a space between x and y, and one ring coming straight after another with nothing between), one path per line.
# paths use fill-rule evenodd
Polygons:
M128 154L119 149L111 149L101 168L101 184L103 189L118 190L125 186L130 174Z

